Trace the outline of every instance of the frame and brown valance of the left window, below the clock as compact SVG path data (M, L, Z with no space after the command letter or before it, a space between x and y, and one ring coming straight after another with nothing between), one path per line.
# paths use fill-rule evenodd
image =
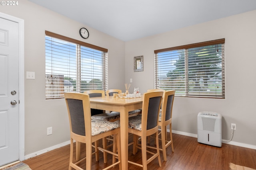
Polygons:
M59 39L59 40L62 40L62 41L66 41L68 43L73 43L74 45L76 45L76 53L77 53L77 62L76 62L76 72L79 72L78 75L76 76L76 92L83 92L81 90L81 74L83 73L81 71L81 58L82 58L82 54L81 54L81 51L82 51L82 48L81 47L85 47L85 48L90 48L90 49L93 49L93 50L97 50L97 51L100 51L102 52L102 89L100 90L106 90L108 89L108 49L105 49L105 48L102 48L102 47L98 47L96 45L92 45L92 44L89 44L89 43L85 43L83 41L79 41L79 40L76 40L76 39L72 39L72 38L69 38L69 37L65 37L63 35L59 35L59 34L56 34L56 33L52 33L50 31L45 31L45 36L48 36L48 37L51 37L51 38L56 38L56 39ZM45 46L46 47L46 46ZM46 63L45 63L45 66L46 66ZM45 68L45 73L46 73L46 68ZM47 73L46 73L47 74ZM54 74L55 75L55 74ZM47 76L46 76L47 77ZM45 98L46 99L56 99L56 98L64 98L64 89L61 89L59 91L59 95L56 95L58 97L47 97L47 78L46 79L46 96ZM88 90L94 90L94 88L90 88ZM97 88L98 90L98 88ZM63 92L63 94L62 94ZM53 93L53 92L51 92Z

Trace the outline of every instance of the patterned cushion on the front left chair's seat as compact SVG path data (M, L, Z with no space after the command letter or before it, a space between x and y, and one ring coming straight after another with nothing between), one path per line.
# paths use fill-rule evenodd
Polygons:
M120 121L109 122L99 119L92 119L92 136L111 131L118 127L120 127Z

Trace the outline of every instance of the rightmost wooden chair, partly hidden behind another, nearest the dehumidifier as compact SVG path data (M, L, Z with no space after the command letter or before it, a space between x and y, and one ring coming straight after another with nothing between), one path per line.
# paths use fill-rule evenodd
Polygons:
M172 145L172 152L174 152L173 141L172 141L172 106L174 102L175 90L170 90L164 92L163 101L162 101L162 112L159 115L159 127L161 127L161 141L162 141L162 150L164 161L167 160L166 148L169 145ZM167 126L170 125L170 141L167 140Z

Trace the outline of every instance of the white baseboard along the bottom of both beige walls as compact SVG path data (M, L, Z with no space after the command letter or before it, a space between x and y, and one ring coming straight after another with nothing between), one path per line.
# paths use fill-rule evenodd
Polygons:
M170 132L169 129L167 129L167 131ZM174 131L174 130L172 130L172 133L197 138L197 135L193 134L193 133L186 133L186 132ZM229 144L229 145L235 145L235 146L238 146L238 147L249 148L249 149L256 149L255 145L248 145L248 144L245 144L245 143L238 143L238 142L233 142L233 141L227 142L227 140L224 140L224 139L222 139L222 143L226 143L226 144ZM38 152L34 152L32 154L25 155L25 160L29 159L29 158L33 158L33 157L38 156L40 154L49 152L51 150L58 149L60 147L64 147L64 146L69 145L69 144L70 144L70 141L67 141L67 142L64 142L64 143L60 143L58 145L54 145L50 148L46 148L46 149L43 149L43 150L39 150Z

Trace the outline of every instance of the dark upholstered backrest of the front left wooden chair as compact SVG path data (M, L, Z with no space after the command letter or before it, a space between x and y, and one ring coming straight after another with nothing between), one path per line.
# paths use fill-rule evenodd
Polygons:
M68 109L70 133L73 134L72 137L77 135L85 136L87 133L91 134L89 95L66 92L64 93L64 97Z

